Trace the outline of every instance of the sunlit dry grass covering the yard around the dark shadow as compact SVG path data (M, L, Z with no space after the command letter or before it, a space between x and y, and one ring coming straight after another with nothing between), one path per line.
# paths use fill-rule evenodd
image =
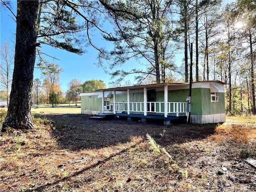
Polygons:
M188 134L196 134L196 128L214 128L214 133L197 140L179 136L182 125L162 126L163 132L148 139L132 136L128 142L80 150L60 146L51 120L34 122L33 130L0 134L1 192L256 191L255 169L242 161L256 158L256 117L198 125ZM173 138L177 142L171 142Z

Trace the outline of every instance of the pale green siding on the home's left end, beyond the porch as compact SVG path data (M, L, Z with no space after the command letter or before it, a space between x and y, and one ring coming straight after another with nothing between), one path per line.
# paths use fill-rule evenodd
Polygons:
M81 110L102 110L102 98L98 95L81 96Z

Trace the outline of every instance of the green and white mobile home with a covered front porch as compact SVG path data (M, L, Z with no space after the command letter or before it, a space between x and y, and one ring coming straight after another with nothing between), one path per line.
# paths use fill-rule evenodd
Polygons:
M128 118L158 118L169 124L186 119L196 124L226 121L224 85L221 81L161 83L118 87L81 93L82 114L114 114Z

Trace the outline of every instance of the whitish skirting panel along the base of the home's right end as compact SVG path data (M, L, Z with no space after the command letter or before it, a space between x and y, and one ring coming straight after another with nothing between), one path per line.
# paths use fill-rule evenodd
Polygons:
M226 114L208 114L208 115L191 115L190 122L196 124L206 123L224 123L226 122Z

